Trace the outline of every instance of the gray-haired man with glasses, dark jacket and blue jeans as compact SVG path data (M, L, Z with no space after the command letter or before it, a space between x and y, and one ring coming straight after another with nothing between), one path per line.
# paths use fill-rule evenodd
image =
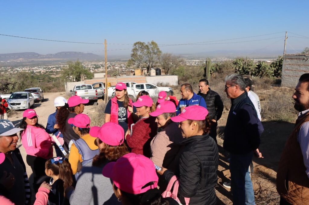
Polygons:
M224 91L232 102L224 131L223 147L231 154L233 204L255 204L249 165L260 145L260 135L264 128L245 91L246 82L243 76L231 74L226 76L224 81Z

